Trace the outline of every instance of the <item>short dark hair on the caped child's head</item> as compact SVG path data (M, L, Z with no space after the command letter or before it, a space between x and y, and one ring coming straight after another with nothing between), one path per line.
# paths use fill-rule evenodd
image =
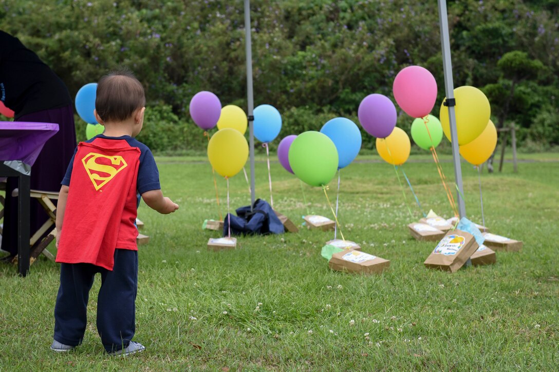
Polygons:
M103 121L124 121L144 106L144 87L129 70L113 71L99 80L95 109Z

